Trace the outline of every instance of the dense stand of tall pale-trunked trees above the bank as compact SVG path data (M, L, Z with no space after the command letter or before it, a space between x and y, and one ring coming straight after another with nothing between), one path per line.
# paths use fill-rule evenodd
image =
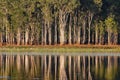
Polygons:
M0 0L0 45L120 44L120 0Z

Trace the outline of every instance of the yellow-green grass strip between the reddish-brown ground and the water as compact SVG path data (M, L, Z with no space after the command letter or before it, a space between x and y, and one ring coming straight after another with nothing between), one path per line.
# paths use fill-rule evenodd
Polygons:
M79 48L79 47L1 47L0 52L115 52L120 48Z

